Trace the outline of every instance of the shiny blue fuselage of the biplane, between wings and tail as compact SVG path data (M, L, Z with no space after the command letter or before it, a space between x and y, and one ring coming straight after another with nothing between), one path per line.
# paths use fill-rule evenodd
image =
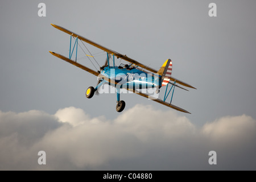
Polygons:
M105 67L102 69L101 74L118 82L120 88L148 89L160 88L161 85L161 78L158 74L146 73L131 67L131 65ZM109 82L105 84L115 86Z

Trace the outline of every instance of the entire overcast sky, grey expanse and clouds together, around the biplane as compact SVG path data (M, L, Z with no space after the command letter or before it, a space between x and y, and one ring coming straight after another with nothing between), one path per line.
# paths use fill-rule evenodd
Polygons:
M38 16L40 2L46 17ZM211 2L217 17L208 15ZM1 1L0 169L255 170L255 7L253 0ZM48 52L69 54L69 35L51 23L157 70L172 59L172 76L197 88L175 89L172 104L192 114L136 94L121 94L122 113L115 94L87 99L97 77ZM40 150L46 165L38 164ZM208 163L212 150L216 165Z

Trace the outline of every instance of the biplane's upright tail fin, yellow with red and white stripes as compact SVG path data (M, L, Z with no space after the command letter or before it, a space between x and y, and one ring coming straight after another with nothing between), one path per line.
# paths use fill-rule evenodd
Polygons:
M162 76L162 86L165 86L170 81L172 75L172 60L167 59L158 71L158 75Z

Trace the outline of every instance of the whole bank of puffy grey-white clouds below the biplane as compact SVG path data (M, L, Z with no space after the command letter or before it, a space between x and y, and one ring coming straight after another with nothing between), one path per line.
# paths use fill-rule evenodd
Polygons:
M113 120L67 107L51 115L0 111L0 169L255 169L255 119L197 128L174 110L136 105ZM46 165L38 152L46 151ZM210 166L208 152L217 152Z

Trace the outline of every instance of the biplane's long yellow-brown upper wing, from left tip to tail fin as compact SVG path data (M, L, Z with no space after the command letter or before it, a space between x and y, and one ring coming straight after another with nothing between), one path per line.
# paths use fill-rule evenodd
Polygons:
M126 61L128 61L128 62L130 62L130 63L135 64L135 65L138 65L139 67L144 68L144 69L147 69L148 71L151 71L151 72L153 72L153 73L156 73L156 72L157 72L157 71L156 71L155 69L153 69L153 68L147 67L146 65L143 65L143 64L139 63L138 61L135 61L134 59L131 59L130 57L127 57L126 55L122 55L121 53L115 52L115 51L113 51L112 49L109 49L109 48L106 48L106 47L104 47L104 46L101 46L100 44L97 44L97 43L93 42L92 40L86 39L86 38L84 38L84 37L82 37L82 36L80 36L80 35L78 35L78 34L75 34L75 33L72 32L72 31L67 30L66 28L63 28L63 27L61 27L61 26L57 26L56 24L51 24L51 25L52 25L53 27L55 27L55 28L57 28L57 29L59 29L59 30L61 30L61 31L67 33L67 34L69 34L69 35L72 35L72 36L75 37L75 38L78 38L78 39L80 39L80 40L82 40L82 41L84 41L84 42L86 42L86 43L88 43L88 44L91 44L91 45L97 47L97 48L100 48L100 49L102 49L103 51L106 51L106 52L108 52L108 53L112 53L113 55L117 56L117 58L120 57L120 58L123 59L123 60L126 60Z

